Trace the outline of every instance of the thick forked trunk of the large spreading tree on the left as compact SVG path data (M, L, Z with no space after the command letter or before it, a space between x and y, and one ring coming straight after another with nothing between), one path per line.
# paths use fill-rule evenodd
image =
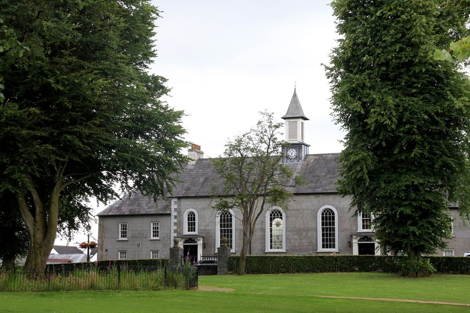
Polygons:
M57 234L60 187L57 184L49 197L40 197L34 187L29 191L33 203L31 208L24 196L18 196L20 212L29 233L29 249L24 269L38 275L46 269L47 257ZM45 198L49 200L46 205L41 200Z

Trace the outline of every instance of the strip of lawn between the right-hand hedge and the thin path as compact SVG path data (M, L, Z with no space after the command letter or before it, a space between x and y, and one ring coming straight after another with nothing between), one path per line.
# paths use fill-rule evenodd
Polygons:
M288 295L332 295L470 303L470 275L404 278L385 273L202 276L200 285Z

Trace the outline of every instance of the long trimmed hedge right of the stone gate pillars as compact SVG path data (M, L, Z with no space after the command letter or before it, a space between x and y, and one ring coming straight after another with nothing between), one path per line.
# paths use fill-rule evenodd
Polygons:
M397 273L403 255L259 255L247 256L245 273L302 273L302 272L373 272ZM470 257L428 256L438 273L470 273ZM229 271L237 272L239 256L229 258Z

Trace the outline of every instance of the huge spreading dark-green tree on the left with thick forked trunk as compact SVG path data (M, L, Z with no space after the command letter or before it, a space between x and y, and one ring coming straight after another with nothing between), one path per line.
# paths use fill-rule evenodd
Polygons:
M165 79L146 72L159 17L149 1L0 0L0 8L29 48L20 59L0 53L0 192L15 194L28 230L26 268L43 270L61 213L85 216L62 201L108 201L116 185L154 199L171 190L169 175L186 160L183 112L160 101Z

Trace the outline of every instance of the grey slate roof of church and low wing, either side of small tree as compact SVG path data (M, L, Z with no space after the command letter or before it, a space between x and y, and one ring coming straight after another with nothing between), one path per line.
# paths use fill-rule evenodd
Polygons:
M306 155L303 162L286 163L294 175L303 175L306 184L292 188L294 194L336 193L339 164L335 161L339 153ZM210 197L213 185L221 185L220 177L214 172L211 159L200 158L194 165L186 165L178 176L181 180L168 198ZM132 194L116 201L98 216L170 214L170 199L157 203L142 194Z

